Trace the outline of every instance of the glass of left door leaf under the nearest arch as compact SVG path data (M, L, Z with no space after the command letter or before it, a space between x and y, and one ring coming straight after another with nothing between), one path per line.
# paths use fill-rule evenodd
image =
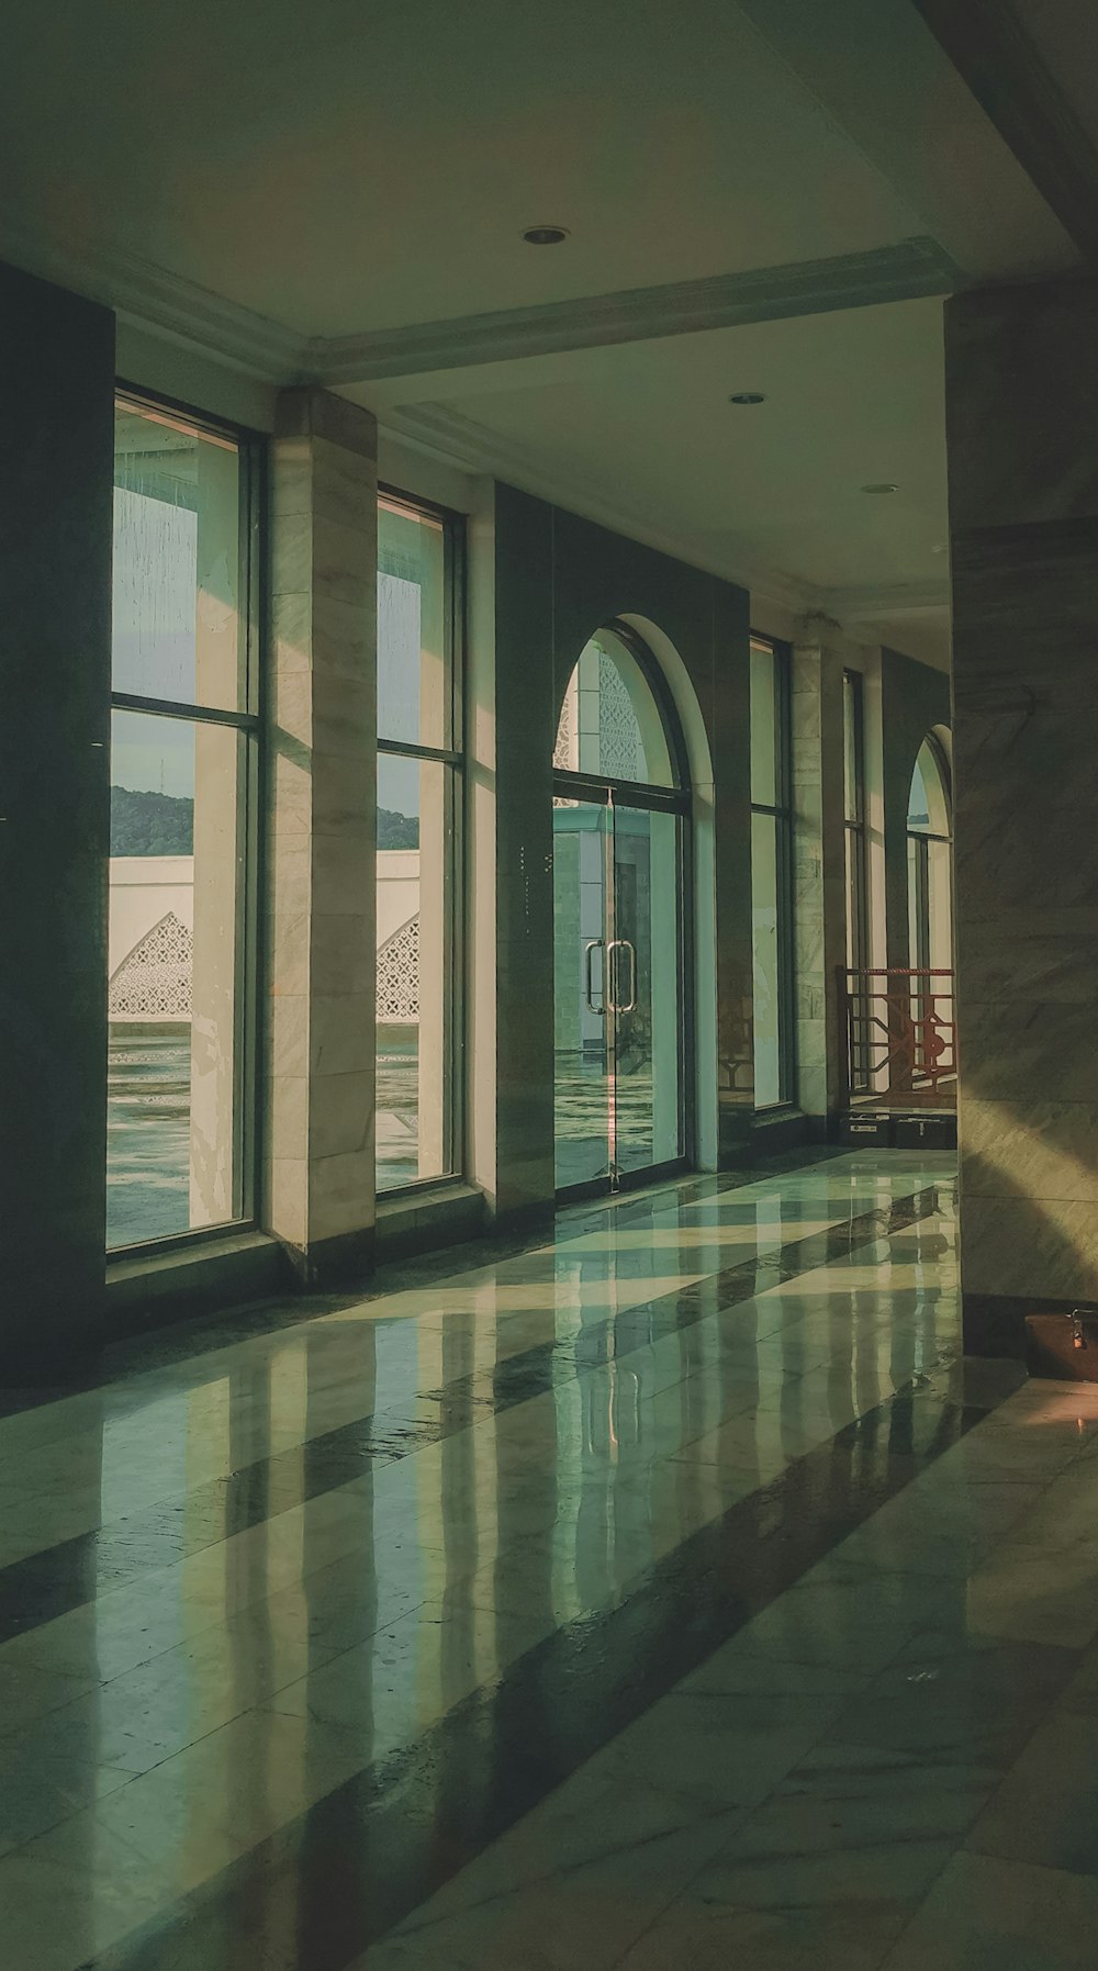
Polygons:
M552 812L556 1187L609 1177L607 810Z

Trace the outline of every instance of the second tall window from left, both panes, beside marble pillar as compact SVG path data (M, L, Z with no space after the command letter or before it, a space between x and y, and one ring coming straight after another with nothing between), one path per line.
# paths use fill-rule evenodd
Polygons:
M378 501L377 1187L459 1169L459 522Z

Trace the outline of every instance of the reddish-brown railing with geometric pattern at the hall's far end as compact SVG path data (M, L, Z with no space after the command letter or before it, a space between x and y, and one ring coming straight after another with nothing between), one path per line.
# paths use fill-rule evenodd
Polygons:
M938 970L840 972L848 1104L956 1104L954 976Z

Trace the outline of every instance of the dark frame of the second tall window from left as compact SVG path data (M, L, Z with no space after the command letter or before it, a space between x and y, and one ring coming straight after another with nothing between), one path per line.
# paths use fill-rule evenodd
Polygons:
M438 501L406 493L388 481L377 487L378 514L382 507L398 509L414 518L424 516L442 526L442 633L446 660L447 714L446 727L449 745L432 747L406 739L384 739L375 714L377 759L422 759L440 765L446 779L446 814L449 834L447 867L444 871L444 1009L442 1009L442 1135L446 1169L438 1177L412 1177L404 1185L378 1185L378 1161L375 1145L375 1198L408 1198L438 1190L442 1185L461 1183L467 1169L467 1100L465 1100L465 922L467 922L467 867L465 867L465 804L469 798L467 759L467 700L465 700L465 514ZM378 568L380 576L380 552ZM378 652L380 654L380 652ZM375 680L378 654L375 654ZM375 769L375 814L377 814L377 769ZM375 842L375 887L377 857ZM422 982L420 982L422 984ZM377 1074L377 1019L375 1019L375 1074Z

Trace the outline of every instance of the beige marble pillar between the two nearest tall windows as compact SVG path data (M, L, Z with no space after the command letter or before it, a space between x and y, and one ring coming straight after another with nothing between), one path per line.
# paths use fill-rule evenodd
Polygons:
M286 390L272 469L264 1224L306 1281L375 1224L377 426Z

